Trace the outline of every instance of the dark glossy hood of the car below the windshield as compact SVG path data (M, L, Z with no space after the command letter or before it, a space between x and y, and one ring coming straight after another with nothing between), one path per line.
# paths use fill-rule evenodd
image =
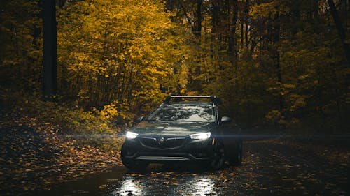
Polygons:
M142 121L130 131L140 135L190 135L193 133L208 132L217 126L217 123L210 122L159 122L159 121Z

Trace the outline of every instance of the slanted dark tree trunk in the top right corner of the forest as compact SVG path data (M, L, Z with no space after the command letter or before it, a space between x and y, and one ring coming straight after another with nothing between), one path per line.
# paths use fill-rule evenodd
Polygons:
M335 4L333 0L327 0L327 1L330 7L330 13L332 14L333 20L335 22L335 26L337 27L340 41L342 42L342 47L345 52L346 60L348 62L348 65L350 66L350 48L349 48L349 45L347 45L347 43L345 42L346 36L345 36L344 28L342 26L342 22L339 19L339 15L337 13L337 9L335 8Z

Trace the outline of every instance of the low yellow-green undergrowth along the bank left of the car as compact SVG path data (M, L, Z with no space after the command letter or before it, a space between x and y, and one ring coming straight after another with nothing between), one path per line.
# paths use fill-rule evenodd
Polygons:
M123 144L122 128L111 121L106 111L94 108L86 111L73 104L45 102L40 96L6 89L1 92L1 106L8 112L35 119L38 125L49 123L58 135L73 140L76 146L94 146L108 152L119 151ZM10 119L7 123L16 126Z

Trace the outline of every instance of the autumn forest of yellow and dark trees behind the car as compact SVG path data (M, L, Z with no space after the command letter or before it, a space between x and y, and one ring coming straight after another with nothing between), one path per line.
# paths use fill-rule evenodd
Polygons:
M350 1L56 1L53 102L42 1L0 7L1 104L59 130L118 132L181 94L244 129L349 133Z

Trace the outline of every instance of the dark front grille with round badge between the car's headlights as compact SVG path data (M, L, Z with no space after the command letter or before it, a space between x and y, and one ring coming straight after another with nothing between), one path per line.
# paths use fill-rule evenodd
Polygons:
M156 149L172 149L185 142L186 137L140 137L141 144Z

